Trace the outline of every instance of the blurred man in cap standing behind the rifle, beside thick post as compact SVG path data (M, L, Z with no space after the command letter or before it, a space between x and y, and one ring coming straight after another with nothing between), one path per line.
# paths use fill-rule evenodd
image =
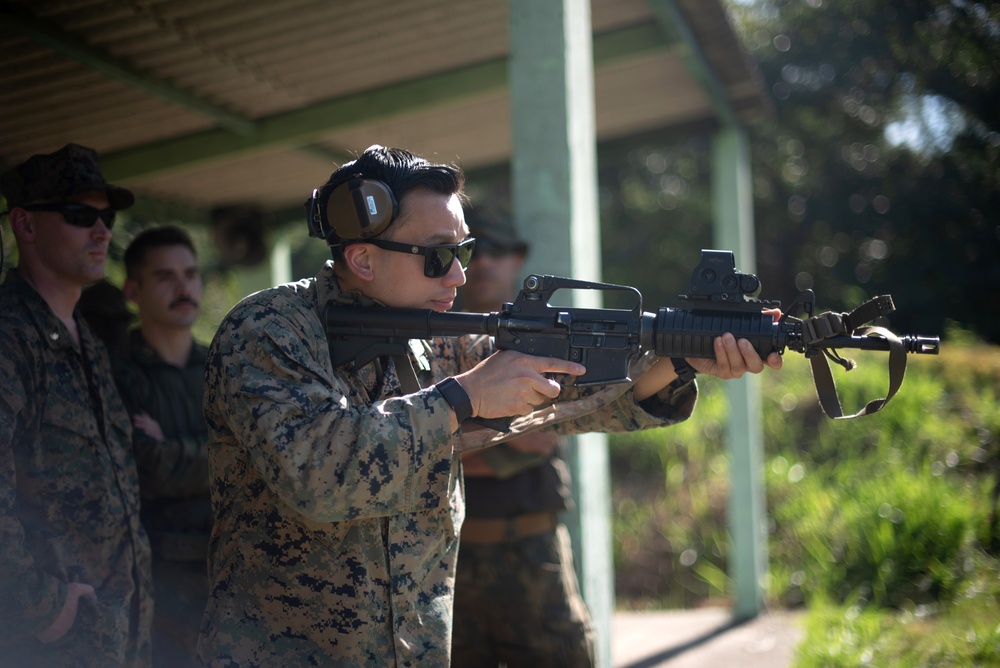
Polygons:
M528 244L509 214L467 207L476 239L463 311L498 311L517 295ZM594 633L559 513L572 503L563 439L534 432L462 456L465 523L455 575L452 666L594 663Z

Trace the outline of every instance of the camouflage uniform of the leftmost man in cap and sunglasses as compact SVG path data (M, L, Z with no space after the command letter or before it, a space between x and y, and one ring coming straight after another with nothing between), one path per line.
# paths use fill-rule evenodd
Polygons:
M12 269L0 286L0 656L15 666L148 666L153 602L131 424L107 353L81 346ZM94 587L72 628L35 636L66 585Z

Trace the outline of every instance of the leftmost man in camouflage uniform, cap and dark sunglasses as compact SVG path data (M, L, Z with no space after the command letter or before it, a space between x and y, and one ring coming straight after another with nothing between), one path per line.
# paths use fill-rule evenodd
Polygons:
M19 264L0 286L0 661L150 664L132 428L76 309L135 198L68 144L0 177Z

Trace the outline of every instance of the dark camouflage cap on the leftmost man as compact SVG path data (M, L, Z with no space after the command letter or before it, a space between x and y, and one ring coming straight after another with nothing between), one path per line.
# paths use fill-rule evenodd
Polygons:
M121 211L135 203L132 191L104 180L97 166L97 152L79 144L66 144L55 153L33 155L0 176L0 191L13 209L34 202L59 202L93 192L107 193L112 209Z

